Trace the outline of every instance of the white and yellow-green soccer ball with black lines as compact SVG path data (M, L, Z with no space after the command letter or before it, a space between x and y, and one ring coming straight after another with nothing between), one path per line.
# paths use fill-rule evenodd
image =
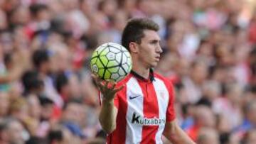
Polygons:
M132 58L122 45L104 43L92 53L90 66L100 79L119 82L131 72Z

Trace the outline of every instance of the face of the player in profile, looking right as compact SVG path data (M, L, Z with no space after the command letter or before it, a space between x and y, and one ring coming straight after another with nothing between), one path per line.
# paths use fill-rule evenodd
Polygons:
M135 57L141 62L142 67L156 67L160 60L160 54L163 50L160 47L160 37L156 31L145 30L144 37L140 44L131 48L131 52L137 55Z

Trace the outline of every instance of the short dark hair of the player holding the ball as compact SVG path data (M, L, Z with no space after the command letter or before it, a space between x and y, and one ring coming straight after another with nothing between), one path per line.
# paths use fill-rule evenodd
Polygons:
M159 25L149 18L133 18L122 33L122 45L129 50L129 43L141 43L144 30L159 31Z

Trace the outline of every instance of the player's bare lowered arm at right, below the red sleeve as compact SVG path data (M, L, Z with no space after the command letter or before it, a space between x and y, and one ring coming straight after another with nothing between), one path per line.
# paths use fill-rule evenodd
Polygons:
M164 136L175 144L196 144L186 133L178 126L176 121L166 123Z

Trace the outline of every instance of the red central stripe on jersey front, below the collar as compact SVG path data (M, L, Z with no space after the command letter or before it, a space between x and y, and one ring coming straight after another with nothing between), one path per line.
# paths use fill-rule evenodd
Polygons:
M140 82L144 95L143 113L145 118L159 118L159 107L156 92L153 83ZM156 143L156 133L159 126L143 126L142 127L142 144Z

